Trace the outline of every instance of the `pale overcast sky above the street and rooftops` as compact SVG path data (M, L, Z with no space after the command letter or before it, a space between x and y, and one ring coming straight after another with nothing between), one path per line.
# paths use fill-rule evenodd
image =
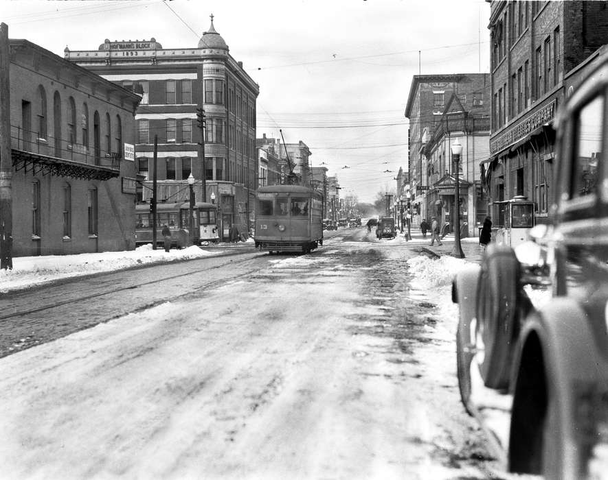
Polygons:
M10 38L60 56L109 40L196 47L214 26L259 84L258 132L303 141L363 202L407 169L412 76L489 71L484 0L0 0Z

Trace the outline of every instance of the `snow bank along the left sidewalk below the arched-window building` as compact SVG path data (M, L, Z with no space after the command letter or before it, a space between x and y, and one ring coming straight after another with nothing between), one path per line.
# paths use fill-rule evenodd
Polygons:
M146 263L196 259L217 253L192 245L183 250L153 250L152 244L124 252L84 253L77 255L17 256L12 270L0 270L0 292L19 290L60 278L113 272Z

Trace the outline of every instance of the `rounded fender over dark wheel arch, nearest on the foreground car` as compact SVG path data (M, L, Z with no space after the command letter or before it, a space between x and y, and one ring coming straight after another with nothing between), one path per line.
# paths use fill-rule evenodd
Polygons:
M559 451L559 458L549 468L563 478L578 478L596 442L596 423L606 420L606 405L598 405L597 400L606 398L608 385L606 361L594 348L587 313L572 299L552 298L550 304L528 315L519 339L510 383L510 470L538 472L541 468L546 448L543 418L551 413L556 425L552 449ZM539 391L543 391L540 396L530 400Z

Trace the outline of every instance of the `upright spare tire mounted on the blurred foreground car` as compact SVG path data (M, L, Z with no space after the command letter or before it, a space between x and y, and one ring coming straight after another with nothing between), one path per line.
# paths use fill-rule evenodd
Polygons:
M488 388L506 389L509 385L519 331L518 291L519 262L515 252L506 245L491 244L477 285L475 309L475 350L482 352L479 368Z

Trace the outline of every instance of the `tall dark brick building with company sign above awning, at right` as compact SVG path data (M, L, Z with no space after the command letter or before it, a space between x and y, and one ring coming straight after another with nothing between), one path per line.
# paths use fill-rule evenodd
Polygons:
M491 201L524 195L549 221L557 111L566 79L608 43L606 2L492 1L492 132L482 180ZM572 77L574 78L574 77ZM492 207L494 226L504 212Z

